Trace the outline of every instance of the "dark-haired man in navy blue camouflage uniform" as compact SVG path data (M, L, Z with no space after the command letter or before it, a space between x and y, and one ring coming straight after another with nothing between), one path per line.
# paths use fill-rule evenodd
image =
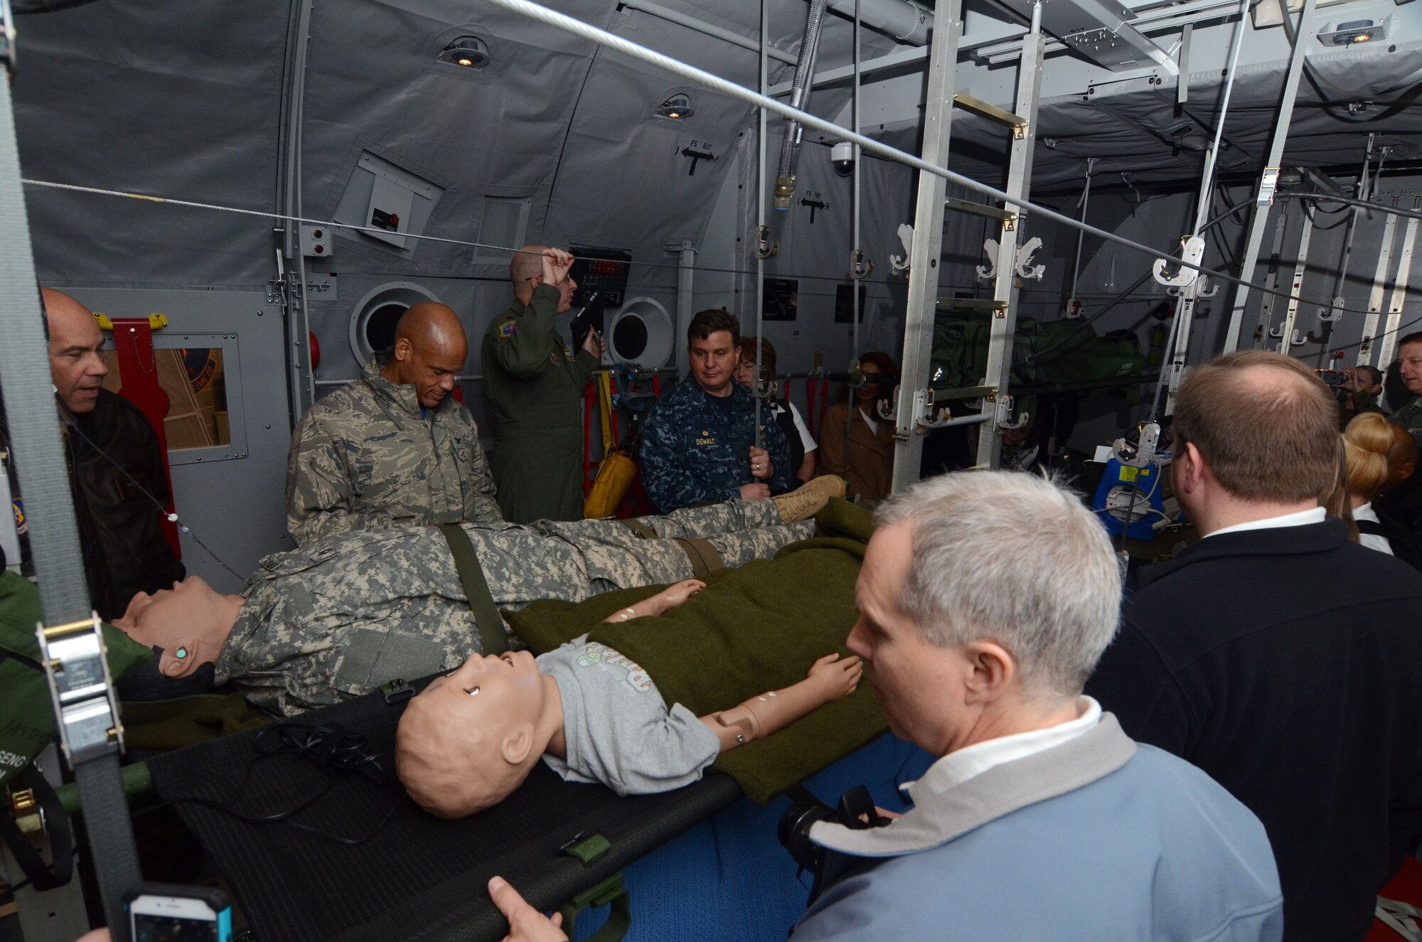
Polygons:
M641 431L641 481L663 514L680 507L789 488L785 435L769 408L735 381L741 327L721 309L698 312L687 327L691 377L661 397Z

